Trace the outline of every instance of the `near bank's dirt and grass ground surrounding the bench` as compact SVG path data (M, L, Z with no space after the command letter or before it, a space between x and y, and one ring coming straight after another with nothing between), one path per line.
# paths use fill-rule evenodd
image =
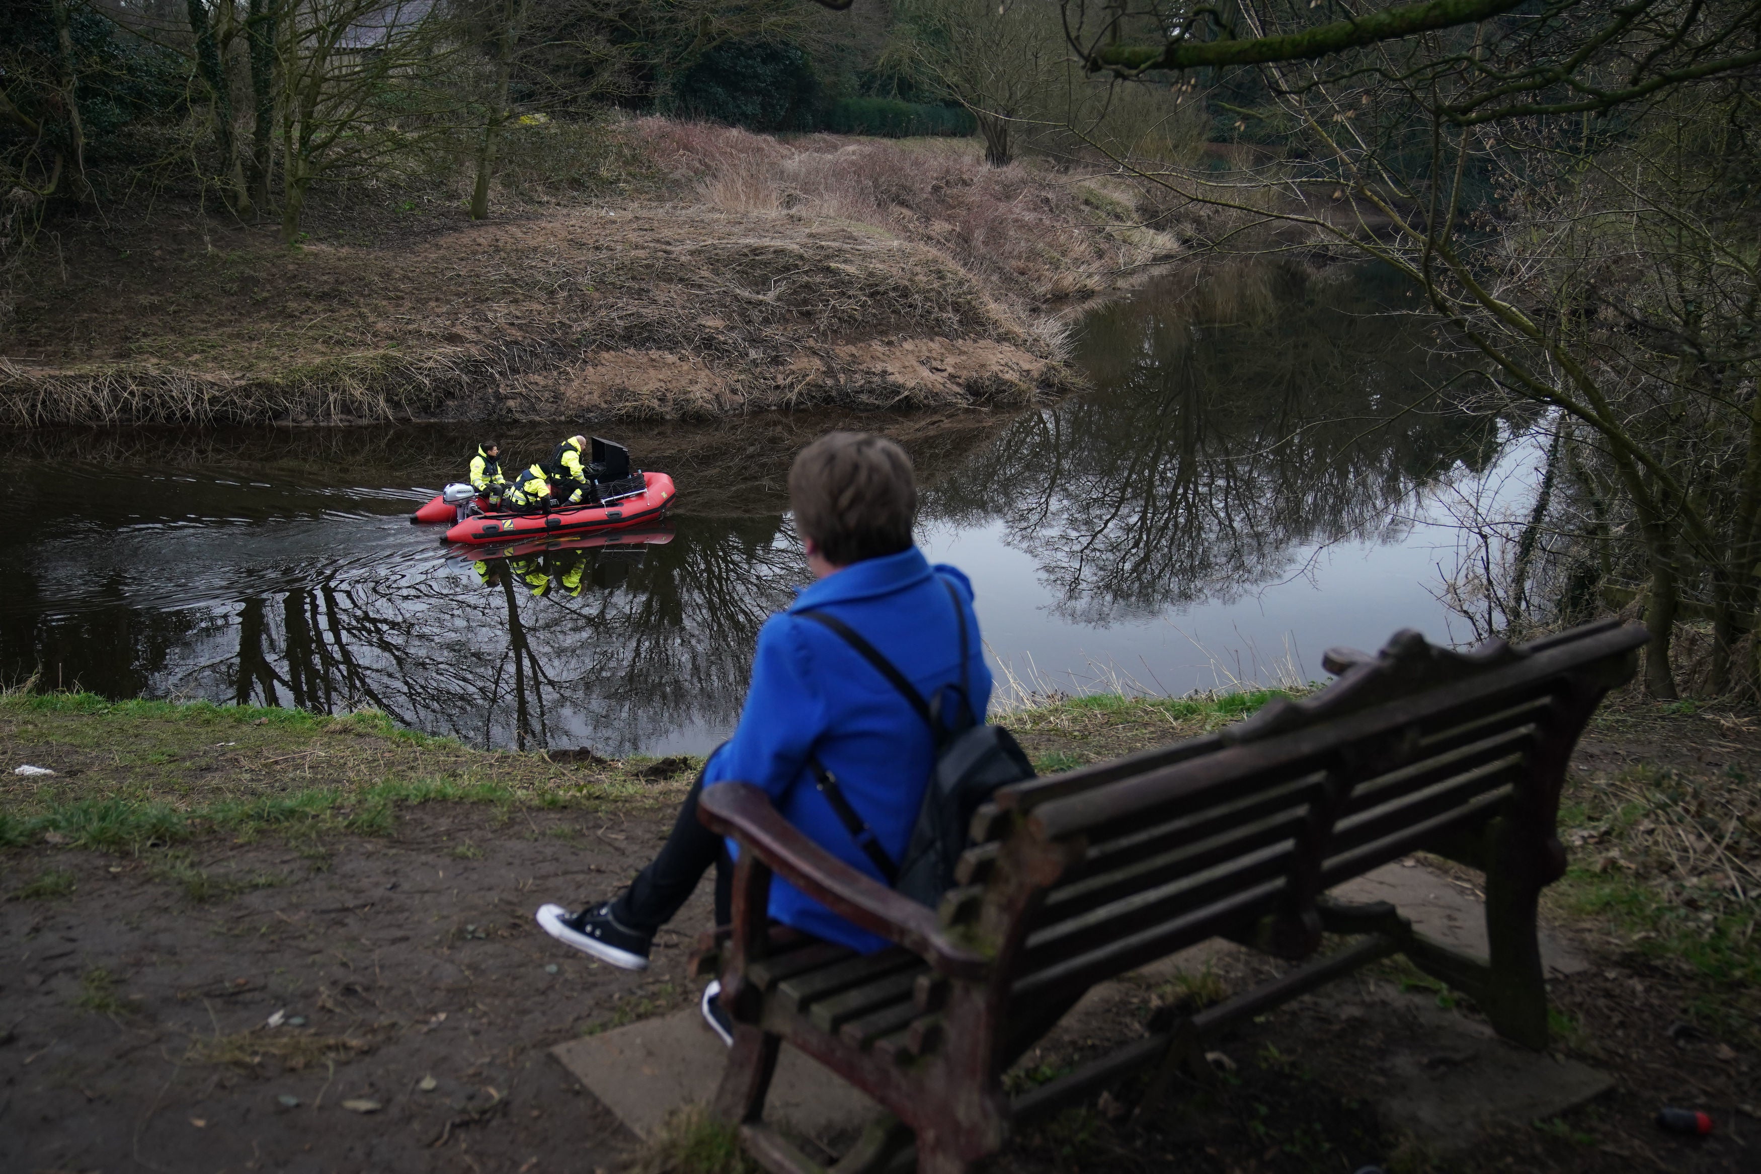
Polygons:
M1006 722L1053 771L1217 729L1271 695L1058 699ZM479 752L373 713L14 692L0 695L0 935L19 950L0 1044L26 1065L0 1163L180 1155L218 1169L310 1153L329 1169L372 1151L402 1169L431 1146L481 1169L627 1158L629 1139L544 1049L687 1007L706 894L634 975L555 949L530 917L620 887L666 834L694 759ZM1752 716L1634 699L1580 746L1562 808L1571 873L1546 921L1585 966L1551 984L1555 1047L1615 1075L1608 1098L1435 1160L1363 1111L1370 1090L1351 1072L1375 1067L1374 1040L1333 1038L1340 1024L1293 1007L1226 1046L1240 1070L1203 1128L1169 1134L1102 1098L1025 1130L1004 1169L1150 1169L1164 1155L1250 1169L1268 1146L1278 1163L1259 1169L1333 1169L1326 1155L1347 1151L1407 1172L1736 1169L1719 1139L1684 1148L1648 1119L1691 1104L1722 1123L1761 1102L1757 769ZM1477 884L1421 864L1439 884ZM1182 993L1217 996L1266 965L1226 950L1203 973L1109 984L1104 1014L1060 1028L1018 1077L1044 1079ZM1411 973L1372 982L1377 998L1435 994L1474 1016ZM1363 1051L1351 1072L1317 1075L1345 1044ZM384 1109L338 1109L361 1100Z

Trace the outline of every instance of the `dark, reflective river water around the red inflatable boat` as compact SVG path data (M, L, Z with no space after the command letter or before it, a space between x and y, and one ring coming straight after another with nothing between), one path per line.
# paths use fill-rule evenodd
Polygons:
M475 428L14 433L0 674L375 706L475 745L701 752L738 718L759 625L808 579L792 452L844 426L910 451L919 540L972 576L1006 692L1317 678L1331 644L1462 635L1433 595L1455 540L1435 500L1506 435L1432 398L1455 371L1386 312L1398 292L1294 269L1152 287L1083 322L1094 389L1028 412L620 428L678 482L676 514L534 558L407 521L461 477ZM569 431L500 435L530 459Z

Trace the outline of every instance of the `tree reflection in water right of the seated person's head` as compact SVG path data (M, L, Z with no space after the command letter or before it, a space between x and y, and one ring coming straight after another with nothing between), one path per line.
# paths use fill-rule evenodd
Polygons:
M1000 519L1069 620L1231 602L1300 547L1398 537L1396 507L1497 454L1495 417L1433 394L1460 364L1361 271L1213 276L1257 297L1199 283L1092 315L1095 391L1018 417L930 495L932 517Z

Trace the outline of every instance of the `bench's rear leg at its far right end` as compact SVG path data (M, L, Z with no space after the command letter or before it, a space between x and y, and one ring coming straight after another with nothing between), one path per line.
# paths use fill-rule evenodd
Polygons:
M1486 854L1486 943L1492 956L1486 1017L1499 1035L1543 1051L1548 1044L1546 972L1536 906L1541 901L1537 854L1513 834L1509 820L1493 820Z

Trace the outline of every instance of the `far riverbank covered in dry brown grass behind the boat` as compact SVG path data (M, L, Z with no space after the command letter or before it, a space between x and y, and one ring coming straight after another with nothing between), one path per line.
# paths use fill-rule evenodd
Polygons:
M292 248L204 209L65 231L0 340L0 424L1020 405L1071 382L1060 310L1178 250L1122 185L969 141L523 134L484 222L391 185Z

